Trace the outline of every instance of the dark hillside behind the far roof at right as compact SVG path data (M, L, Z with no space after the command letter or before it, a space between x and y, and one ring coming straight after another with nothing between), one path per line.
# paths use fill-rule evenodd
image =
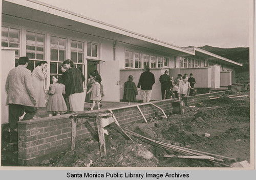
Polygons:
M249 47L219 48L205 45L199 48L243 64L243 67L234 68L236 70L236 79L241 83L249 82Z

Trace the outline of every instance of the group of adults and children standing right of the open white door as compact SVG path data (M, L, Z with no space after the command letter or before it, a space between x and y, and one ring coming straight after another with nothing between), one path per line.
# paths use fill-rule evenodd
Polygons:
M161 83L162 99L173 98L181 99L185 95L192 95L195 92L194 85L196 84L193 74L190 73L190 78L187 74L183 76L178 74L174 80L172 76L168 75L168 71L165 70L159 78ZM141 87L143 102L149 102L152 97L152 87L155 84L155 76L150 72L150 67L144 66L144 72L141 73L139 83L136 85L133 82L133 75L129 75L128 81L124 83L124 95L123 99L128 101L128 105L132 101L136 101L136 95L138 95L138 89Z

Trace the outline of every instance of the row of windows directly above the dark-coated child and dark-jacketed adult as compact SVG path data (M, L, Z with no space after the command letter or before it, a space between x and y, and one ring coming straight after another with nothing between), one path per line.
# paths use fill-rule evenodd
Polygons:
M168 58L125 50L125 68L143 68L145 65L156 68L167 66Z

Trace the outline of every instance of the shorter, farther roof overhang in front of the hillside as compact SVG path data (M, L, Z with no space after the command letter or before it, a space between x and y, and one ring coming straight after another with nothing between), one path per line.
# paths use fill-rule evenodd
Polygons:
M223 58L221 56L218 56L216 54L207 52L206 50L200 49L198 47L189 47L188 49L190 50L195 50L195 56L199 57L200 59L206 59L206 60L210 60L212 62L215 62L217 64L226 64L226 65L230 65L230 66L243 66L242 64L238 63L238 62L234 62L232 60Z

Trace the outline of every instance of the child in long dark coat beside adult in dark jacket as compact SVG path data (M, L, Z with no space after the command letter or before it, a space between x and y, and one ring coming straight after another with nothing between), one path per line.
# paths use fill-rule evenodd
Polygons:
M131 101L136 101L136 95L138 95L138 91L133 82L133 76L129 75L128 81L124 83L123 98L128 101L128 105L131 105Z

